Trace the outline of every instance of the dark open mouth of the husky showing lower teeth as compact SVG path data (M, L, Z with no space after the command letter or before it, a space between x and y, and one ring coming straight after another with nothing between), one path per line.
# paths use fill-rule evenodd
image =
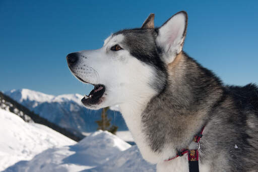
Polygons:
M94 84L93 84L94 85ZM101 97L105 92L105 86L102 84L94 85L94 89L89 95L84 95L82 103L84 105L99 104L101 102Z

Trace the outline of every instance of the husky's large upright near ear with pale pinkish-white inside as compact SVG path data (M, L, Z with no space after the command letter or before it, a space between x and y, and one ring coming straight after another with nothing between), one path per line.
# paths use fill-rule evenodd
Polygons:
M187 27L187 13L176 13L168 19L159 29L156 38L157 45L162 50L164 62L173 62L175 56L182 51Z

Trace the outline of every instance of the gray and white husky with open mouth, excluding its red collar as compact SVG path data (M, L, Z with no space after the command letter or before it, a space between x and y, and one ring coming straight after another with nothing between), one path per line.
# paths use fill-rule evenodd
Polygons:
M144 159L157 171L189 171L182 149L202 128L199 169L258 171L258 89L224 86L183 50L187 14L161 27L151 14L141 28L109 36L102 48L68 54L75 77L94 85L82 103L90 109L119 104Z

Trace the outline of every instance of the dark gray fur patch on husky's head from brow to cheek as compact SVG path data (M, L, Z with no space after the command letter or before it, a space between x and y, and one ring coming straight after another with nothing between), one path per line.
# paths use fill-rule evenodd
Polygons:
M118 34L124 36L123 44L135 58L156 69L156 76L154 76L153 82L149 84L157 92L162 92L166 86L167 71L165 64L159 58L159 47L155 43L158 34L156 30L130 29L116 32L113 35Z

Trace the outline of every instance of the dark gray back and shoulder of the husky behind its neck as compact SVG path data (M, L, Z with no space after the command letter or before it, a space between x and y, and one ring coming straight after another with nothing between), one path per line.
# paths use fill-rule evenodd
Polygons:
M212 157L209 160L213 161L211 169L217 171L258 170L257 93L258 88L254 84L243 87L225 87L221 102L211 112L212 127L209 127L203 142L202 153L206 156L204 161ZM208 142L211 143L212 140L215 144L210 145ZM208 155L207 152L217 155ZM225 159L228 160L225 161Z

